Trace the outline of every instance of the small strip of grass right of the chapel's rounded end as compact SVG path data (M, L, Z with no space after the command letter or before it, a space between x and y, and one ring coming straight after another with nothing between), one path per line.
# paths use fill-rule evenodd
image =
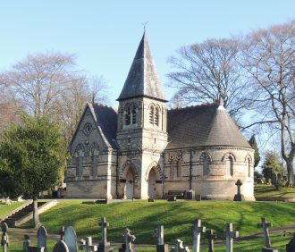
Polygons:
M257 185L254 188L255 197L295 197L295 187L275 189L273 185Z

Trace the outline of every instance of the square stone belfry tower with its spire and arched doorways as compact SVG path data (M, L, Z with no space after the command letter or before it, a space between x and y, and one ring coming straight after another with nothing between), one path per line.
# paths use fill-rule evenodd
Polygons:
M119 195L162 197L167 102L143 34L118 97Z

